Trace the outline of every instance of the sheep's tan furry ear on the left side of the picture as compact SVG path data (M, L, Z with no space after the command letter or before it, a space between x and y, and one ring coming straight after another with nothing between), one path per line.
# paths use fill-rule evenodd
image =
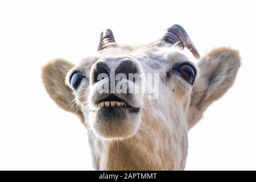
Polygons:
M65 85L65 77L73 67L73 64L65 60L57 59L49 62L42 69L43 83L49 96L58 106L79 115L82 119L82 112L74 101L73 90Z

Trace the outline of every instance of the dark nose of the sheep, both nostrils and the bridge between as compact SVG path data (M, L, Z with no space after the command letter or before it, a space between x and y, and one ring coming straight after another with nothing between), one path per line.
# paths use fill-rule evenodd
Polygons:
M96 63L93 72L94 82L101 80L101 73L105 73L104 75L107 75L108 77L115 77L119 73L122 73L123 75L121 77L126 76L126 79L129 79L129 74L132 74L133 76L135 73L138 73L137 65L133 60L122 60L118 65L117 64L112 64L114 66L111 67L111 64L108 64L106 61L99 61ZM115 67L115 65L117 65L117 67Z

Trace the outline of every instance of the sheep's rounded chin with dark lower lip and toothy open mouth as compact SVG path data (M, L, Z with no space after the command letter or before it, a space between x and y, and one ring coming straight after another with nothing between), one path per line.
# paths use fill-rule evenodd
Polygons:
M103 139L127 139L137 133L141 123L141 107L133 107L117 96L99 100L90 113L90 127Z

